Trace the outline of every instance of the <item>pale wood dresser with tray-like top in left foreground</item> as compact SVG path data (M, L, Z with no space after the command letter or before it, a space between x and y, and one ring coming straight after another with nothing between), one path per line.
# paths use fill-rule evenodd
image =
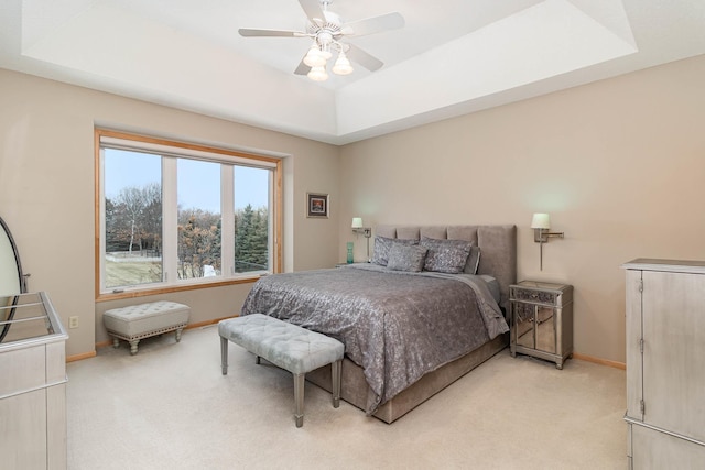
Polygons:
M0 468L66 469L67 338L45 293L0 296Z

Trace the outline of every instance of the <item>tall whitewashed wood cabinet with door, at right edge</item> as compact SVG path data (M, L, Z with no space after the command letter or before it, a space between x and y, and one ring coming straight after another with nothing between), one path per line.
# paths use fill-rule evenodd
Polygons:
M629 468L705 468L705 262L622 267Z

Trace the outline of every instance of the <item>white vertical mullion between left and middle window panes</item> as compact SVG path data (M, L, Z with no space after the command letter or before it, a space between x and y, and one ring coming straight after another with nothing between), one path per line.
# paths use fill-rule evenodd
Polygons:
M162 157L162 239L164 250L164 282L174 284L178 281L178 207L176 188L176 159Z

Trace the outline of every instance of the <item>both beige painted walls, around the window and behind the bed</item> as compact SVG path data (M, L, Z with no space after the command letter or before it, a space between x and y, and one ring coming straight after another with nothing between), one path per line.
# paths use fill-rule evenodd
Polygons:
M620 264L705 259L705 57L371 139L340 149L0 69L0 216L30 288L52 296L68 356L107 339L94 302L94 123L291 155L284 162L285 270L324 267L377 223L514 223L519 277L575 286L575 350L625 360ZM305 217L306 192L330 219ZM564 240L539 247L551 212ZM235 314L249 284L165 296L192 321ZM149 297L148 297L149 299Z

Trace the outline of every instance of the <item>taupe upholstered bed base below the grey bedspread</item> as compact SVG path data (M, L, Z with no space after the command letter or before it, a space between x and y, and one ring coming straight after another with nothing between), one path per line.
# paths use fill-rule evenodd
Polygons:
M402 391L392 400L381 405L375 413L375 417L391 424L405 415L443 389L505 349L509 345L509 334L503 334L494 340L486 342L475 351L468 352L429 372L409 389ZM306 380L330 392L330 368L316 369L306 374ZM343 360L343 382L340 397L360 409L366 409L367 395L370 389L365 381L362 368L345 358Z

